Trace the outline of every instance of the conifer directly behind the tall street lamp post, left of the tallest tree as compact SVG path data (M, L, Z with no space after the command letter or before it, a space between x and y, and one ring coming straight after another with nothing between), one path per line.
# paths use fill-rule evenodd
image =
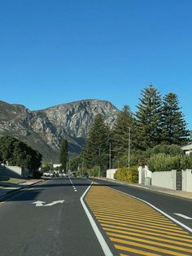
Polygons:
M111 132L111 152L113 159L115 157L120 159L120 157L126 155L125 158L127 158L126 161L128 163L129 139L131 148L134 148L134 130L133 113L129 106L124 105L122 111L117 114L116 123Z

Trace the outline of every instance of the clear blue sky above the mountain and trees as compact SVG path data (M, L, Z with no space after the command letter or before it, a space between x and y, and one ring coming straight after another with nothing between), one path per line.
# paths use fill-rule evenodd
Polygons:
M133 111L153 83L192 130L191 0L0 2L0 99L40 109L107 99Z

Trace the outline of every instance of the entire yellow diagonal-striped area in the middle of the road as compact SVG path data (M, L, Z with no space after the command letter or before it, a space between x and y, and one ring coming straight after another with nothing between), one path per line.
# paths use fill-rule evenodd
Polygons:
M192 236L132 196L93 186L85 201L121 256L192 255Z

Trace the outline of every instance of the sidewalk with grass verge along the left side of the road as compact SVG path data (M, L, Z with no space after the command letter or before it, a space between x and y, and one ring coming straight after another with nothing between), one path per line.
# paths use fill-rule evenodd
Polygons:
M36 183L40 183L43 179L28 179L24 183L13 184L13 183L1 183L0 182L0 199L4 196L11 194L12 192L16 192L21 190L22 188L28 188ZM6 185L6 187L5 187Z

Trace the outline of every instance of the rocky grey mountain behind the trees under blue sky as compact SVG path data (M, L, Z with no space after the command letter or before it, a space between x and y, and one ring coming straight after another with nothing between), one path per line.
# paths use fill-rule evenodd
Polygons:
M81 152L94 117L101 113L113 126L118 109L110 102L85 99L30 111L24 105L0 101L0 135L12 135L30 144L44 161L59 161L59 145L68 139L69 152Z

